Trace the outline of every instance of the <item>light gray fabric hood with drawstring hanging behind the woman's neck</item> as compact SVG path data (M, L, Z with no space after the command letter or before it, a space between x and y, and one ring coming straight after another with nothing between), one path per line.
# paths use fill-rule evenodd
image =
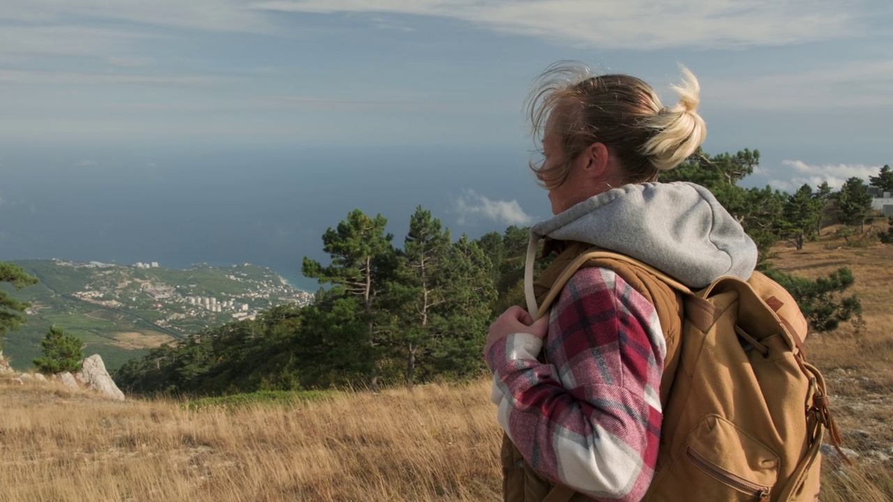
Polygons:
M614 188L537 223L530 230L530 268L543 237L628 255L692 289L725 275L747 280L756 265L756 245L739 222L710 190L681 181ZM532 270L525 275L532 284Z

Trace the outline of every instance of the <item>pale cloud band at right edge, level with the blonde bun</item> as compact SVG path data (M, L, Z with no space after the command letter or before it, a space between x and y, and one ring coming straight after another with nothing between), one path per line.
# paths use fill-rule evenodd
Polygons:
M852 61L833 69L753 78L701 79L702 99L717 107L803 110L893 106L893 59Z

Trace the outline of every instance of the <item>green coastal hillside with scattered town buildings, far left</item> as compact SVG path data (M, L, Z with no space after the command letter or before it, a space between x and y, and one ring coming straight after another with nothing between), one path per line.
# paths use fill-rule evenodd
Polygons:
M99 354L114 369L196 330L312 299L276 272L251 264L187 270L62 260L14 264L40 280L19 291L0 284L12 297L31 303L28 322L4 343L4 355L17 369L40 355L39 341L53 324L83 339L88 356Z

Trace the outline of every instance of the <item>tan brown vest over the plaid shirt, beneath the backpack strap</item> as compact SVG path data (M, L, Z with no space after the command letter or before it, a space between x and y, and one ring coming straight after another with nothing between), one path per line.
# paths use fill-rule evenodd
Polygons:
M587 251L591 251L592 248L591 244L582 242L547 241L547 251L555 249L560 252L555 261L539 274L537 280L533 283L534 295L537 297L538 304L541 305L543 303L549 290L552 289L552 286L564 269L575 258ZM680 293L674 291L665 282L658 280L645 269L620 261L596 259L588 261L583 266L610 268L620 275L623 280L626 280L639 294L655 305L657 317L660 320L667 344L666 358L663 361L663 380L661 381L660 394L663 400L665 396L670 395L670 388L675 378L676 368L679 365L679 340L682 325ZM571 500L572 502L591 500L591 498L580 493L571 496L572 489L560 485L556 487L555 484L534 471L530 464L524 461L521 452L514 446L512 440L506 434L503 434L501 456L505 502L550 502L551 499ZM551 499L548 498L550 493L552 494Z

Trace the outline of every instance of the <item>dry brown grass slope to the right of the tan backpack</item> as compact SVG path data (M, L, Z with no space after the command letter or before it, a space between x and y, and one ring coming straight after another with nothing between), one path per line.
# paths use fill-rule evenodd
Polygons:
M893 461L884 458L893 457L893 246L871 238L860 245L826 238L800 251L780 247L774 260L780 270L811 279L849 267L863 305L862 330L847 323L806 340L809 361L828 381L845 446L860 455L852 467L825 461L823 502L893 500Z

